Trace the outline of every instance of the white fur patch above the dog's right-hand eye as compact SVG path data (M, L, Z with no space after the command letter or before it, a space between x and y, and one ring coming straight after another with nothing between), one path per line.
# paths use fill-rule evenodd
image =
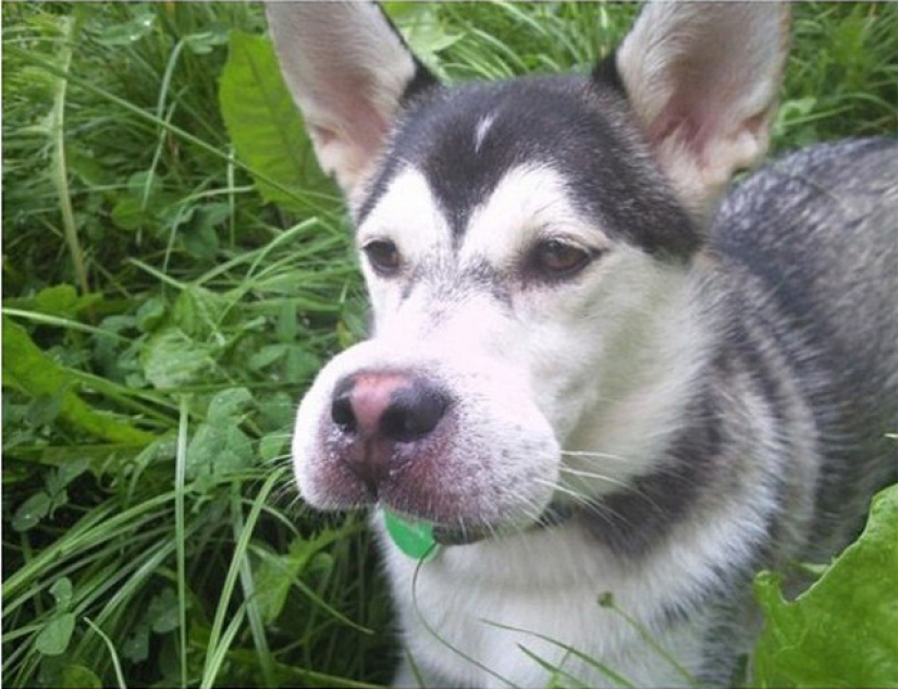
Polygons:
M503 267L539 238L568 239L603 248L605 236L577 212L564 179L546 165L509 170L471 213L462 257Z

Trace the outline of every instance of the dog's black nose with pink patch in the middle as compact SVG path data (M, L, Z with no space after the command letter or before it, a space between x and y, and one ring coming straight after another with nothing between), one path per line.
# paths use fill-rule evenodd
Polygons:
M335 387L331 420L342 435L339 457L377 497L399 444L427 438L448 406L432 382L395 371L349 376Z

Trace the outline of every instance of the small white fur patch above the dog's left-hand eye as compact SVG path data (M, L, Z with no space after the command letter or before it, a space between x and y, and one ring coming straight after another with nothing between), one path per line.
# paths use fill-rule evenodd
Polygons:
M406 258L450 249L452 231L423 174L406 168L390 182L358 227L356 242L390 239Z

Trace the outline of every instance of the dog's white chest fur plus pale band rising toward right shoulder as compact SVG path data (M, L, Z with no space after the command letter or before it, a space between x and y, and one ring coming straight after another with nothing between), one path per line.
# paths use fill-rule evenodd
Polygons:
M759 495L770 508L774 496ZM416 666L473 687L544 687L550 673L518 644L587 686L617 686L565 645L604 664L636 686L687 686L671 661L647 645L616 605L648 629L687 672L700 665L701 615L673 633L660 632L660 612L712 587L713 566L743 561L764 538L762 509L721 506L679 526L665 546L639 566L627 566L576 525L465 547L445 549L417 564L384 538L388 568L399 605L404 638ZM374 522L380 527L379 515ZM459 586L464 581L465 586ZM694 611L693 611L694 613ZM512 631L502 628L510 627ZM443 680L445 681L445 680ZM406 665L397 686L416 686ZM569 682L568 682L569 684ZM430 686L434 686L431 684Z

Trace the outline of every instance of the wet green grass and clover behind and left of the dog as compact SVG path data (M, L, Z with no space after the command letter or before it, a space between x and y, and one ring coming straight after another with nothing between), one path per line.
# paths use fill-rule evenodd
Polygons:
M462 81L588 69L636 9L390 11ZM229 49L263 58L260 7L2 12L3 682L388 681L364 525L309 513L290 476L296 401L364 300L303 138L269 168L219 93ZM774 148L894 135L898 8L796 15Z

